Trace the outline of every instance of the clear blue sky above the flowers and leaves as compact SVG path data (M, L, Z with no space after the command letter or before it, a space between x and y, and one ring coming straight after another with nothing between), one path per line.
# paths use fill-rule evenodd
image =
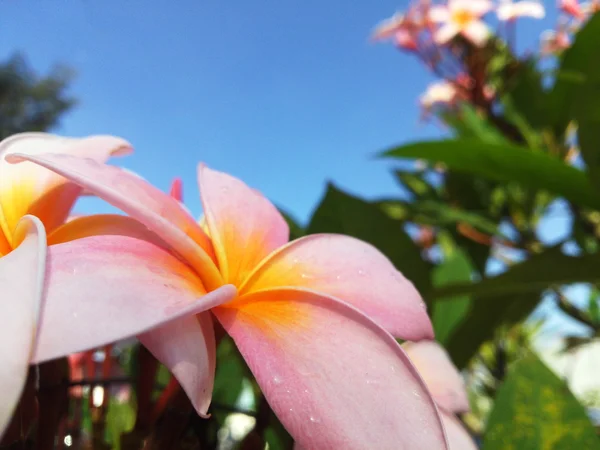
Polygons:
M130 140L136 153L123 164L162 189L181 176L195 214L204 161L304 221L326 180L366 197L397 193L391 163L370 156L443 133L419 123L426 70L368 39L406 4L3 0L0 58L21 50L40 71L72 65L80 104L56 131ZM545 22L520 32L533 44Z

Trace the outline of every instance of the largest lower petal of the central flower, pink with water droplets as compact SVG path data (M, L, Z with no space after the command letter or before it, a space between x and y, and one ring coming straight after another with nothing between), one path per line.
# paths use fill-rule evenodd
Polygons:
M290 291L249 294L213 312L302 447L447 448L408 357L358 310Z

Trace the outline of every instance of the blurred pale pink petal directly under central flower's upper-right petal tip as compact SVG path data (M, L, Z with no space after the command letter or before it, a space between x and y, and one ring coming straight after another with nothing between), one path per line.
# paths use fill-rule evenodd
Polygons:
M435 341L409 342L404 350L438 406L451 413L469 411L463 380L441 345Z

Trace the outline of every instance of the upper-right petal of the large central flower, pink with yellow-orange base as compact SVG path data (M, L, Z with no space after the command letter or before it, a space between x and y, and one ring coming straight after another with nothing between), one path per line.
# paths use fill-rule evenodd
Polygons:
M272 254L240 287L244 293L307 288L350 303L396 337L432 339L425 303L379 250L358 239L320 234Z

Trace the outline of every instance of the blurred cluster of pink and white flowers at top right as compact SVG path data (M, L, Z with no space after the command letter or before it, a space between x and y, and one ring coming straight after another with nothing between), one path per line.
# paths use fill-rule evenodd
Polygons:
M542 33L540 39L542 56L568 48L571 34L600 10L600 0L558 0L557 6L561 14L556 28ZM420 97L425 115L436 107L454 108L464 101L486 109L496 95L488 63L506 50L514 57L517 19L542 19L545 13L536 0L414 0L405 12L381 22L373 39L391 40L440 79Z

